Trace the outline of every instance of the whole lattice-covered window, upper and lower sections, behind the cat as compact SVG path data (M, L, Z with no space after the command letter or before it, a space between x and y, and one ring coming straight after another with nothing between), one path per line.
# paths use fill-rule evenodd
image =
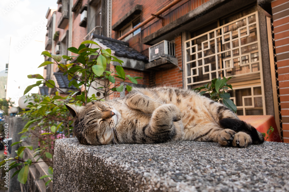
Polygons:
M248 14L247 9L208 28L193 32L184 42L185 87L234 76L229 82L234 90L229 92L238 115L266 115L257 12L249 9Z

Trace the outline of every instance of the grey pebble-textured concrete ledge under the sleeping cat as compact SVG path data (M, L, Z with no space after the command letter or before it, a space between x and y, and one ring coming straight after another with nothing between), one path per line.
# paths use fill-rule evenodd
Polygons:
M289 144L56 141L53 191L289 191Z

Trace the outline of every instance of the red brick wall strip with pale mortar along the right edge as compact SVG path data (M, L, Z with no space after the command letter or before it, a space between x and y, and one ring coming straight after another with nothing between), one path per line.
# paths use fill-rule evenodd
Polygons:
M284 142L289 142L289 1L271 2Z

